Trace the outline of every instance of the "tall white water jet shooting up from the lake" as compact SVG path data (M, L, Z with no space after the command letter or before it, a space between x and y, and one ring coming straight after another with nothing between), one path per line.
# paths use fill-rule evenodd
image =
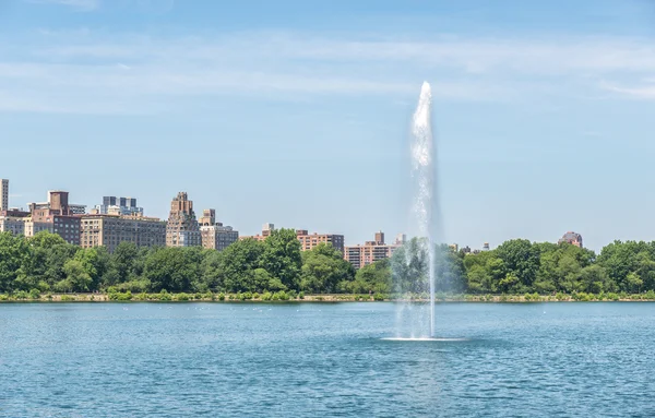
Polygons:
M430 337L434 336L434 143L432 139L432 91L428 82L420 88L418 106L412 120L412 177L415 179L413 214L418 236L427 246L430 286Z

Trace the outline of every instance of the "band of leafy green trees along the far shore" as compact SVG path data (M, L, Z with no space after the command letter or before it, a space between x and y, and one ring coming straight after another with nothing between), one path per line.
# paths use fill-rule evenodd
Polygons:
M264 241L239 240L224 251L83 249L39 232L0 232L0 292L276 292L425 294L430 266L438 292L575 294L655 290L655 241L615 241L596 254L569 243L505 241L477 254L412 239L391 259L355 271L329 244L301 251L293 229Z

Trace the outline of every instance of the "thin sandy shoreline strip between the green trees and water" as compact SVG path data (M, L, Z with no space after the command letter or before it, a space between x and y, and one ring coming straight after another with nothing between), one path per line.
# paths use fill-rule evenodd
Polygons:
M29 302L29 303L66 303L66 302L217 302L217 303L267 303L267 302L310 302L310 303L337 303L337 302L410 302L428 303L427 298L391 298L388 295L303 295L296 298L275 298L255 295L245 297L245 294L46 294L38 295L4 295L0 294L0 303ZM456 295L437 298L436 303L547 303L547 302L655 302L646 294L632 295Z

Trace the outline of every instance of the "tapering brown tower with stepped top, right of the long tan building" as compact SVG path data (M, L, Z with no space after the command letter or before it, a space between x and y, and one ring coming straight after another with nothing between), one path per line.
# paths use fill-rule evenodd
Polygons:
M186 192L179 192L170 202L166 226L167 247L196 247L202 244L200 228L193 212L193 201Z

